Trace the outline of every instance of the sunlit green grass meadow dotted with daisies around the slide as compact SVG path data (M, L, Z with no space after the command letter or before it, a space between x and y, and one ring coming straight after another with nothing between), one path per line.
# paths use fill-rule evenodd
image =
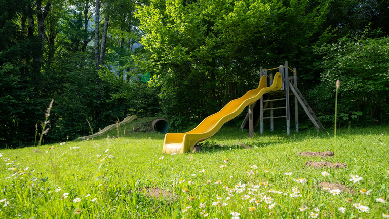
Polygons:
M119 138L112 139L118 135L114 129L108 134L110 138L104 135L64 145L2 150L0 218L204 218L200 214L203 210L209 218L231 218L231 212L240 213L240 218L308 218L315 208L319 209L317 218L382 218L382 213L389 214L388 204L376 199L387 198L389 193L387 130L387 126L340 129L336 139L333 131L317 134L308 130L292 132L290 136L265 131L263 136L255 133L250 140L247 130L223 127L203 143L201 153L172 156L162 153L163 134L131 133L132 124L128 124L125 136L124 127L120 127ZM253 150L238 146L238 142ZM335 156L297 155L325 150ZM224 159L229 162L224 163ZM347 168L306 167L309 160L346 163ZM253 169L252 165L258 168ZM202 169L205 172L199 172ZM249 175L247 170L253 170L253 174ZM330 176L322 176L323 171ZM292 175L284 175L286 172ZM354 184L349 181L351 174L363 180ZM297 178L307 182L293 180ZM185 181L180 184L180 180ZM193 180L192 185L188 185L189 180ZM221 184L215 184L217 180ZM317 187L320 181L344 184L355 193L333 196ZM239 182L246 184L245 190L234 192L227 200L229 195L223 185L235 188ZM251 190L253 184L260 182L268 182L269 186ZM293 187L298 187L302 197L290 197ZM174 197L148 197L144 188L171 191ZM370 190L370 196L359 192L363 188ZM64 193L69 193L66 198ZM250 198L243 200L246 195ZM220 204L226 206L213 205L217 196L222 198ZM260 201L262 196L273 198L272 209L264 201L258 205L249 202L252 198ZM189 201L189 197L195 200ZM74 202L76 198L81 201ZM94 198L96 201L92 202ZM353 202L347 202L347 198ZM3 206L6 202L8 205ZM201 203L205 203L205 208L199 208ZM368 206L369 212L361 212L353 207L354 203ZM192 207L183 212L188 205ZM249 211L251 206L255 211ZM300 211L301 207L308 208ZM339 207L346 209L344 214Z

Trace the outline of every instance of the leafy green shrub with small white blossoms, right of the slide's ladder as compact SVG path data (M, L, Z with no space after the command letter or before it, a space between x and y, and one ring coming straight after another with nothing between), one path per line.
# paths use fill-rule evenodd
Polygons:
M315 52L324 55L320 65L324 72L322 85L314 95L320 95L321 101L334 98L335 81L339 79L339 119L348 121L351 118L357 124L387 121L388 99L384 94L389 92L389 38L345 36L337 43L315 47ZM331 104L321 110L330 114ZM328 116L321 118L331 120Z

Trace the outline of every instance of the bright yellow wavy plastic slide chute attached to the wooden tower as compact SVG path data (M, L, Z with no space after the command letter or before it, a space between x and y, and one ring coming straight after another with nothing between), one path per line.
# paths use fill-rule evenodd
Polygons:
M257 89L249 90L241 98L230 101L219 112L205 118L195 129L185 133L168 133L165 135L163 152L184 153L192 150L195 144L206 140L214 135L221 126L242 113L243 109L261 96L270 91L280 90L281 74L277 72L274 76L273 84L270 87L266 85L266 76L262 76Z

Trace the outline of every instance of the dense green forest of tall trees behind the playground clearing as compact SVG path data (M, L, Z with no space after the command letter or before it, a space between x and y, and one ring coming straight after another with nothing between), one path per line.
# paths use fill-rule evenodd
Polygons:
M33 145L52 99L46 142L132 114L183 130L285 60L326 127L337 79L340 125L387 124L388 33L385 0L0 0L0 147Z

